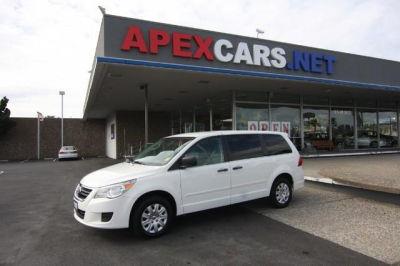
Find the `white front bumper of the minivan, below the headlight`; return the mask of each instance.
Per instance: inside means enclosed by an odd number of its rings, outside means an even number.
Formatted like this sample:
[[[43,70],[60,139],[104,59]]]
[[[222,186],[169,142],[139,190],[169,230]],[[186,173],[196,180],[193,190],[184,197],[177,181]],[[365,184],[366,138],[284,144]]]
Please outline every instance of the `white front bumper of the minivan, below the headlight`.
[[[93,189],[84,200],[74,196],[74,202],[76,202],[76,206],[74,206],[75,220],[94,228],[128,228],[130,213],[135,199],[126,195],[115,199],[95,199],[95,194],[96,190]],[[80,212],[79,215],[78,212]],[[112,213],[111,219],[107,222],[102,221],[102,214],[104,213]]]

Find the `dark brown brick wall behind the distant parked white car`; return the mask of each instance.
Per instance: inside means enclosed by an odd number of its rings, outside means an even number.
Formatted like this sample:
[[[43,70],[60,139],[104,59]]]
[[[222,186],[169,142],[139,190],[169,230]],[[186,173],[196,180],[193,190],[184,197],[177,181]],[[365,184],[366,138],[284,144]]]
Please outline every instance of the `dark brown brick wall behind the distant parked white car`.
[[[0,160],[37,158],[37,119],[13,118],[15,127],[0,136]],[[46,118],[40,124],[41,158],[56,158],[61,145],[61,121]],[[64,118],[64,145],[74,145],[83,157],[105,155],[105,120]]]

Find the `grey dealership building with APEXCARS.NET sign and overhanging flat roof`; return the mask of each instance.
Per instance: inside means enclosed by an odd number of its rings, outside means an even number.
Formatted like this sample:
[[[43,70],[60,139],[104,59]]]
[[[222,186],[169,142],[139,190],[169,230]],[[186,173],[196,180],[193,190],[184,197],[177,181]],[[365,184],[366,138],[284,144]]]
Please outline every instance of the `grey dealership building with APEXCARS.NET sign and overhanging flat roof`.
[[[106,155],[208,130],[286,132],[304,154],[399,149],[400,63],[105,15],[84,118]]]

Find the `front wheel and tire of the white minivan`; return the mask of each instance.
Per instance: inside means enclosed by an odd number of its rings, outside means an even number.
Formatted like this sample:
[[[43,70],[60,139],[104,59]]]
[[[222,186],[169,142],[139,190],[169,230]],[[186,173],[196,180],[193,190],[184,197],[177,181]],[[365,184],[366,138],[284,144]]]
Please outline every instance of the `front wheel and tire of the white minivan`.
[[[131,228],[136,235],[158,237],[166,233],[175,214],[171,203],[154,195],[141,200],[131,214]]]

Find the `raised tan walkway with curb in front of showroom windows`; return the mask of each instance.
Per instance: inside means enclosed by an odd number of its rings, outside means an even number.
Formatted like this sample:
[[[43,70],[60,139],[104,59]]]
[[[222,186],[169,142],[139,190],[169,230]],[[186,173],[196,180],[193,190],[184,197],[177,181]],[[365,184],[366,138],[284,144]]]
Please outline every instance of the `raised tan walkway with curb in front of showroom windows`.
[[[305,176],[400,194],[400,154],[310,158],[303,168]]]

